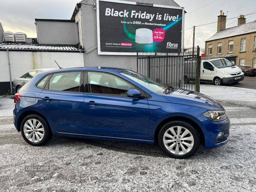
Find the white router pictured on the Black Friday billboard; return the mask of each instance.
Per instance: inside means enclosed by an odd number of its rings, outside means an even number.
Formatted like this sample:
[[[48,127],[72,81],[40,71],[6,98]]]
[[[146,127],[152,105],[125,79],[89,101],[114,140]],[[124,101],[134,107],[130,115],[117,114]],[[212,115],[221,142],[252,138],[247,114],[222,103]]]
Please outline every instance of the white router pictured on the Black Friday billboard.
[[[153,32],[151,29],[140,28],[136,29],[135,42],[137,44],[152,44]]]

